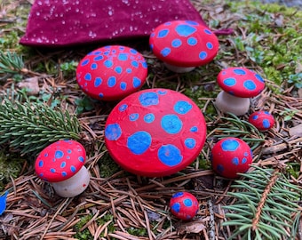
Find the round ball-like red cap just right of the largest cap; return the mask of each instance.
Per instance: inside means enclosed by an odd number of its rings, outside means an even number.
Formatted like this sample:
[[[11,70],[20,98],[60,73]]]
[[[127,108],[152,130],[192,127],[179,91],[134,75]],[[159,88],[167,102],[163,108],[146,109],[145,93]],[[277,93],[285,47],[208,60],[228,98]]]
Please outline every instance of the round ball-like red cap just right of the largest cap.
[[[212,169],[225,178],[234,179],[237,173],[247,172],[251,162],[249,145],[237,138],[219,140],[211,149]]]

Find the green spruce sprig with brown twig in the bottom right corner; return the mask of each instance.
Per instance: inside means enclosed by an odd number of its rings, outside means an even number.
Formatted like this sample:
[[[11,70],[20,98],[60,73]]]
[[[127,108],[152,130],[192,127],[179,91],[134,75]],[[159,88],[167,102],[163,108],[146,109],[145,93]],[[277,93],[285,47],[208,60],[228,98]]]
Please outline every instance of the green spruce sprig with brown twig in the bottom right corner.
[[[222,225],[234,227],[229,239],[295,239],[301,216],[296,202],[302,188],[291,184],[278,169],[253,167],[253,172],[241,174],[243,180],[235,181],[238,191],[228,193],[236,198],[233,205],[224,207],[228,220]]]

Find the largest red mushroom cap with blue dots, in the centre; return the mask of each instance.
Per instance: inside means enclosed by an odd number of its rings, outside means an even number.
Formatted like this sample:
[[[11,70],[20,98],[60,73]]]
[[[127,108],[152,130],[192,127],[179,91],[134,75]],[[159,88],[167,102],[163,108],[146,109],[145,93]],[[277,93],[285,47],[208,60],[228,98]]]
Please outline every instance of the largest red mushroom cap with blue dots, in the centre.
[[[200,108],[168,89],[132,93],[115,106],[105,126],[105,143],[115,162],[147,177],[170,175],[191,164],[205,136]]]

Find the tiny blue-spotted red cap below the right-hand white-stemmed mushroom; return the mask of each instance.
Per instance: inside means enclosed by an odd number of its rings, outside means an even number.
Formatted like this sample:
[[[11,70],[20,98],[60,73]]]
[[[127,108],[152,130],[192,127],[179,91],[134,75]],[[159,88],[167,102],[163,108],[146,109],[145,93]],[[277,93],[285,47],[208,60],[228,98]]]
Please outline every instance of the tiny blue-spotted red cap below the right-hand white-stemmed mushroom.
[[[259,131],[266,131],[274,126],[274,116],[267,111],[257,111],[249,116],[249,122]]]

